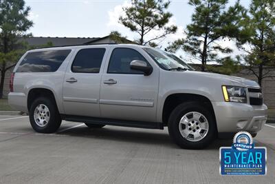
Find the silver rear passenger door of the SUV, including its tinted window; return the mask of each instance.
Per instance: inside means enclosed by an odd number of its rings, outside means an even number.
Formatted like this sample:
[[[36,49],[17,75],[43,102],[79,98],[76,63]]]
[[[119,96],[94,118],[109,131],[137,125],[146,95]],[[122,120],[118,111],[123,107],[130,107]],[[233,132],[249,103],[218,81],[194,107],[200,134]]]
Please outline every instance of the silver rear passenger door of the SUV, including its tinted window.
[[[63,84],[65,114],[100,116],[100,68],[106,52],[104,47],[80,49],[68,65]]]

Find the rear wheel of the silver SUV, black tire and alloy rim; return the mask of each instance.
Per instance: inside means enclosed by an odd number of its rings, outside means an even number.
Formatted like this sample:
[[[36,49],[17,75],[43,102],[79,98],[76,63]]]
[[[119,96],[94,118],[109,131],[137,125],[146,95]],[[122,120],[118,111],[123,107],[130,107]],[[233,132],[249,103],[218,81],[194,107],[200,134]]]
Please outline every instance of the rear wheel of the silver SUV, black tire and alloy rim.
[[[44,112],[44,113],[43,113]],[[39,97],[30,107],[30,124],[39,133],[54,133],[61,125],[61,116],[51,98]]]

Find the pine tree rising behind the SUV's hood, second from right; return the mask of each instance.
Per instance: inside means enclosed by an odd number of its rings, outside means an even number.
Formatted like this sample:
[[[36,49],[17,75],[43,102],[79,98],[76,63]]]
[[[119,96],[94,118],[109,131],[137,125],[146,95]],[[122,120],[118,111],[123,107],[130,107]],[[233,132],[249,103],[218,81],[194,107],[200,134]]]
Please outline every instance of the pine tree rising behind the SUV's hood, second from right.
[[[183,49],[201,61],[201,71],[206,70],[208,61],[228,61],[222,59],[219,53],[228,54],[232,50],[222,41],[234,38],[241,31],[239,21],[244,19],[245,9],[239,1],[234,6],[226,8],[228,0],[189,0],[195,7],[192,23],[187,25],[186,39],[172,43],[168,50]]]

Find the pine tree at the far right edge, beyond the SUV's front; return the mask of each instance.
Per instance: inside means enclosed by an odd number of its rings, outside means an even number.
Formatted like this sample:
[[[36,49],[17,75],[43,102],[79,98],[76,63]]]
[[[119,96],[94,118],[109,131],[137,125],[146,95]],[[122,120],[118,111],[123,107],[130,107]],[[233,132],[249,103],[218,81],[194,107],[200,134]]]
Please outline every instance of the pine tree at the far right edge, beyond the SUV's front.
[[[249,16],[241,25],[245,30],[237,45],[247,53],[245,67],[262,85],[263,79],[275,77],[270,73],[275,68],[275,1],[252,0]]]

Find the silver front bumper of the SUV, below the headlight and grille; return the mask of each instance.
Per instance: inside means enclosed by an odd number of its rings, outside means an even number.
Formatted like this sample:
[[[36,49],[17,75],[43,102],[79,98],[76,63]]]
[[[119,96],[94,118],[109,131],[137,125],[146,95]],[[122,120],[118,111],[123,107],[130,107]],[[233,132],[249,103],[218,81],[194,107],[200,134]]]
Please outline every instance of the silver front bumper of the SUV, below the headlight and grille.
[[[267,106],[213,102],[218,132],[259,132],[267,121]]]

